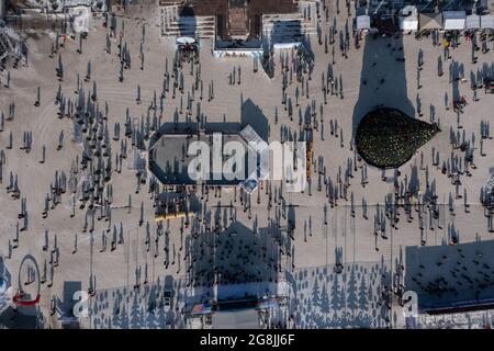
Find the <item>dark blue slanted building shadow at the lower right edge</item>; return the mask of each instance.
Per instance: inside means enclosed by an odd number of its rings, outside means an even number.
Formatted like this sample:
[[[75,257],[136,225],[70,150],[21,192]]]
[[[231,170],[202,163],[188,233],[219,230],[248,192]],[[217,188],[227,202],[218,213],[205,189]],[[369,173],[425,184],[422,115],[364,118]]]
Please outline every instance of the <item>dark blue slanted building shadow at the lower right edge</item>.
[[[493,249],[494,240],[407,247],[405,286],[417,293],[419,310],[445,314],[492,309],[494,259],[487,252]]]

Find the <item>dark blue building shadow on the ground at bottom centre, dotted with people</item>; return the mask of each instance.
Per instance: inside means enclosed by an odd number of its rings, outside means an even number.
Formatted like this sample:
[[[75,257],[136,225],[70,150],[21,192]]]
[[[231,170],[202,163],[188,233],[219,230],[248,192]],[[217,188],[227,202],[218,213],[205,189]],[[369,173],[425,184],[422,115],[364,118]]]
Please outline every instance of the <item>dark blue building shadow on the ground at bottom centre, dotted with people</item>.
[[[195,301],[232,305],[276,296],[282,256],[272,230],[252,230],[235,222],[224,230],[189,236],[188,281]]]

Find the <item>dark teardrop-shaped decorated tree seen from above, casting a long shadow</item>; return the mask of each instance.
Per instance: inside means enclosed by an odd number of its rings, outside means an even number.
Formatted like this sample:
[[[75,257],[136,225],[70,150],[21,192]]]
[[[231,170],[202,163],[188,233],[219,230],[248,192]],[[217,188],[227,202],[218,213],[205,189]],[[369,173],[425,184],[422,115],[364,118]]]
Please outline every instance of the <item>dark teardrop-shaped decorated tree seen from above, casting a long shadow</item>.
[[[397,109],[378,107],[360,121],[355,141],[366,162],[390,169],[406,163],[438,132],[436,124],[412,118]]]

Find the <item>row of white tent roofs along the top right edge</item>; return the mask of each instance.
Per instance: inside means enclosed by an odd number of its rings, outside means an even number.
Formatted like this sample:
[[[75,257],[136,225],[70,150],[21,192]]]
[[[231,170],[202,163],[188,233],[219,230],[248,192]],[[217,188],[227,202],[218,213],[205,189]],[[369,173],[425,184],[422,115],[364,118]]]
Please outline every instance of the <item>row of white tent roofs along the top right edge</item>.
[[[357,30],[370,30],[370,22],[369,15],[357,16]],[[408,5],[401,11],[400,30],[403,32],[416,32],[418,30],[494,30],[494,15],[467,15],[464,11],[418,13],[416,7]]]

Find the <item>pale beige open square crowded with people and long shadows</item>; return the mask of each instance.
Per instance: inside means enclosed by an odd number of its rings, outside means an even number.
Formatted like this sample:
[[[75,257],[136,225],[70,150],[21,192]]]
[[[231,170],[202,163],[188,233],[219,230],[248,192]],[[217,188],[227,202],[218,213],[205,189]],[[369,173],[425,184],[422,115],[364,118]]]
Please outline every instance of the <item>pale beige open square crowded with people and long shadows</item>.
[[[475,252],[489,256],[494,239],[485,204],[494,94],[476,88],[494,77],[492,36],[485,53],[472,49],[480,31],[449,53],[434,35],[368,33],[356,45],[355,1],[349,12],[345,1],[297,4],[314,65],[300,77],[294,48],[273,48],[270,78],[251,56],[215,57],[210,37],[199,39],[197,59],[179,63],[177,37],[162,33],[170,7],[155,2],[113,5],[114,30],[93,13],[83,39],[57,38],[58,20],[43,13],[13,25],[27,55],[0,72],[0,268],[11,292],[23,286],[40,302],[11,307],[4,325],[32,326],[23,316],[34,314],[36,325],[59,328],[74,305],[71,282],[90,295],[86,328],[194,328],[194,306],[247,296],[270,302],[260,327],[405,328],[403,293],[430,303],[437,290],[420,284],[439,288],[438,278],[450,276],[437,261],[452,269],[461,258],[451,250],[474,244],[461,262],[476,270]],[[454,106],[461,97],[463,112]],[[357,126],[379,106],[438,127],[398,168],[379,169],[357,152]],[[184,190],[190,214],[155,220],[157,193],[183,190],[149,171],[149,140],[161,125],[187,123],[238,123],[266,141],[307,141],[306,189],[198,183]],[[409,254],[422,251],[430,269],[408,271]],[[34,283],[26,256],[37,264]],[[494,298],[493,268],[479,260],[484,284],[476,275],[448,284],[460,296],[470,286],[469,299]],[[469,314],[473,327],[492,322],[490,309]],[[430,318],[415,326],[441,327]]]

